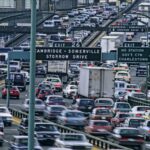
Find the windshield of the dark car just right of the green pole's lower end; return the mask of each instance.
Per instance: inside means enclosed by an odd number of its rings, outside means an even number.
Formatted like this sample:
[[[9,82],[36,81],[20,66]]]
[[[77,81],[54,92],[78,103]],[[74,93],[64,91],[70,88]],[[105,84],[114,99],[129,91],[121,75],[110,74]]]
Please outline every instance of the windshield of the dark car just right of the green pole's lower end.
[[[35,131],[56,131],[52,124],[36,124]]]

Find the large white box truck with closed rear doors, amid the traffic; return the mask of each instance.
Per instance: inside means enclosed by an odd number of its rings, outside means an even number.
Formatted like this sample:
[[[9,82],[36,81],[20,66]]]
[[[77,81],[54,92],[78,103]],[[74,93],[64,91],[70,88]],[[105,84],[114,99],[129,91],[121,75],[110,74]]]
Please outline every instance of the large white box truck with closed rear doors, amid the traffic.
[[[80,69],[78,95],[81,97],[110,97],[114,94],[114,72],[103,67]]]

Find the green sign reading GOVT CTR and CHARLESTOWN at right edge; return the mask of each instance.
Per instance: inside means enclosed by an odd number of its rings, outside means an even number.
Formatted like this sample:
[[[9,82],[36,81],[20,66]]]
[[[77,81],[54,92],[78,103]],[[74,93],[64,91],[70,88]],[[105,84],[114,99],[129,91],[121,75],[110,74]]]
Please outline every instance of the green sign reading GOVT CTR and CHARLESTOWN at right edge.
[[[119,47],[117,60],[126,63],[148,63],[150,47]]]

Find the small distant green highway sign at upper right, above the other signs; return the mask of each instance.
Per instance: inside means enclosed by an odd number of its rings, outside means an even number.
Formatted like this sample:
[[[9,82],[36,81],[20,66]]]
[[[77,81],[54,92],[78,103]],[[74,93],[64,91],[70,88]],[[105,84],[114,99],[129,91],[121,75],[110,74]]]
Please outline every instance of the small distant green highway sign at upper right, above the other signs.
[[[146,26],[137,25],[113,25],[108,28],[109,32],[146,32]]]

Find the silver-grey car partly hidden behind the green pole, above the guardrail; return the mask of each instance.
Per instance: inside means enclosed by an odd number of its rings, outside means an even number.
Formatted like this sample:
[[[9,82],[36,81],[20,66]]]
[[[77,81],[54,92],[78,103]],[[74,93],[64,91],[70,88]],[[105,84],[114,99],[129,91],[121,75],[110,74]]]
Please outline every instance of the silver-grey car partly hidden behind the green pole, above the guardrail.
[[[25,99],[23,106],[22,106],[22,110],[25,112],[29,112],[29,99]],[[43,114],[44,110],[45,110],[45,103],[40,100],[40,99],[35,99],[35,113],[36,114]]]

